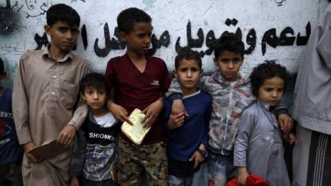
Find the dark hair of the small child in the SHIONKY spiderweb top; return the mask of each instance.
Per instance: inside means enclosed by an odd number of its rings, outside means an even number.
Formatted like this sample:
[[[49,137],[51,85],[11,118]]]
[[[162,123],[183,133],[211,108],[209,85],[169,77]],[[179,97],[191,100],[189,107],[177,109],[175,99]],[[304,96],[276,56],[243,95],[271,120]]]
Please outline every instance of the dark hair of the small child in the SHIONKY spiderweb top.
[[[86,87],[94,87],[97,90],[106,89],[105,77],[103,74],[92,72],[86,74],[79,82],[79,92],[84,94]],[[107,90],[107,89],[106,89]]]

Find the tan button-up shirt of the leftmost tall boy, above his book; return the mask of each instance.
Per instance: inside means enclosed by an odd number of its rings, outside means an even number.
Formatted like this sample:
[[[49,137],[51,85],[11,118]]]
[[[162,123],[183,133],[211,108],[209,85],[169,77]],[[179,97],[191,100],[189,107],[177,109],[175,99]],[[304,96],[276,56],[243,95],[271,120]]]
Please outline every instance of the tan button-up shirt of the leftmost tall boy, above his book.
[[[88,71],[86,61],[71,52],[59,61],[48,48],[21,56],[12,93],[20,144],[41,145],[57,138],[67,124],[81,126],[88,107],[79,101],[79,81]]]

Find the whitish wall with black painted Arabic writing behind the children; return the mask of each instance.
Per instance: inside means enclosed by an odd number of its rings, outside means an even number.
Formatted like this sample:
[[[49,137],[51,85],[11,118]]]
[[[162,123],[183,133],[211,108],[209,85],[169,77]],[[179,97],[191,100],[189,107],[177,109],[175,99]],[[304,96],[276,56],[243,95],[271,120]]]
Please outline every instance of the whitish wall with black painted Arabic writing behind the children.
[[[224,31],[237,32],[245,43],[243,72],[265,59],[297,72],[314,24],[326,0],[0,0],[0,57],[12,86],[21,54],[45,48],[49,37],[43,25],[52,4],[66,3],[81,16],[81,34],[74,53],[88,59],[90,68],[104,72],[107,61],[121,55],[123,43],[115,32],[117,14],[129,7],[145,10],[154,27],[150,53],[169,70],[181,48],[201,52],[206,73],[214,71],[212,43]]]

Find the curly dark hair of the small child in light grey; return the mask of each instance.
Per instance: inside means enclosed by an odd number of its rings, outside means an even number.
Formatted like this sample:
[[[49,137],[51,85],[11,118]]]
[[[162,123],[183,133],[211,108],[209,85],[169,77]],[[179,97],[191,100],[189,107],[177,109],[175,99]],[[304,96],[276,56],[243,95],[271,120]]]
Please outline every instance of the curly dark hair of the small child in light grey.
[[[254,96],[259,96],[259,88],[263,85],[265,79],[279,77],[284,80],[284,90],[286,87],[286,79],[288,79],[288,70],[283,65],[279,65],[274,61],[264,61],[253,68],[250,73],[250,81],[252,83],[252,91]]]

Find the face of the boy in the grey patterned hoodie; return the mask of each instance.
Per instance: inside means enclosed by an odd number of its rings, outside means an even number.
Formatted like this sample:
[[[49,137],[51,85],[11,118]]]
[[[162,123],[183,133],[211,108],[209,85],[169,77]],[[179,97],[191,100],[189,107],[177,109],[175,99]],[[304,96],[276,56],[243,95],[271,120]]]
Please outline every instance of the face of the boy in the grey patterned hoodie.
[[[225,50],[214,59],[214,64],[219,68],[219,72],[227,81],[238,81],[239,70],[243,64],[241,55],[236,52]]]

